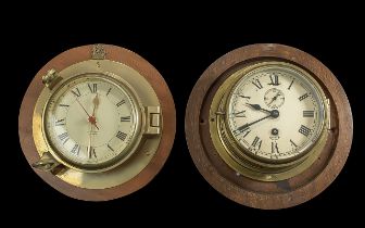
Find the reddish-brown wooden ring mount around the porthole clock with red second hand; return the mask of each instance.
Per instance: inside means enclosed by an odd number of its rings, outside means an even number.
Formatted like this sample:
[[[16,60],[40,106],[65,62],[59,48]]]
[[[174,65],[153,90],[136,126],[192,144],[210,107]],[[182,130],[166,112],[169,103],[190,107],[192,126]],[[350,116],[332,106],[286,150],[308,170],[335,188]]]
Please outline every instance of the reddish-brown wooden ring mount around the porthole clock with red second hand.
[[[166,83],[160,73],[143,58],[127,49],[110,45],[103,45],[103,47],[106,51],[106,59],[116,62],[123,62],[129,67],[136,69],[150,83],[161,103],[161,110],[163,113],[163,130],[159,149],[150,164],[129,181],[113,188],[98,190],[78,188],[62,181],[50,173],[38,170],[30,166],[38,174],[38,176],[40,176],[47,183],[52,186],[58,191],[68,197],[86,201],[112,200],[129,194],[144,187],[153,179],[153,177],[160,172],[166,162],[173,147],[176,131],[176,113],[174,100]],[[33,140],[32,121],[34,106],[38,96],[45,88],[45,86],[41,84],[42,75],[45,75],[50,68],[61,71],[76,62],[89,60],[91,49],[92,46],[83,46],[59,54],[48,62],[37,73],[30,83],[24,96],[18,116],[18,134],[21,145],[29,165],[39,160],[39,155]]]

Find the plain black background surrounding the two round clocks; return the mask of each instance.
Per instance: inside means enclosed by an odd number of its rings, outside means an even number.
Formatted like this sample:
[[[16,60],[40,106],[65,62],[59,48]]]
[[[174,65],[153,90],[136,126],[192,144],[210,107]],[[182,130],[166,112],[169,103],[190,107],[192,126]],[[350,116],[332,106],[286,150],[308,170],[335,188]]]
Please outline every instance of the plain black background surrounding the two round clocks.
[[[16,100],[13,97],[10,100],[14,122],[17,123],[27,86],[42,65],[70,48],[90,43],[116,45],[143,56],[164,76],[177,112],[174,148],[159,175],[138,192],[100,203],[70,199],[45,183],[28,166],[18,143],[17,129],[14,129],[15,124],[12,125],[14,143],[10,144],[16,147],[3,151],[11,154],[9,161],[15,161],[5,169],[10,174],[4,177],[7,186],[3,187],[9,191],[4,199],[10,202],[8,213],[21,213],[22,216],[41,214],[45,220],[61,214],[66,218],[64,225],[68,218],[77,218],[76,221],[81,224],[98,220],[139,224],[150,221],[150,215],[153,215],[152,223],[171,226],[165,221],[167,217],[176,218],[178,224],[199,218],[212,224],[256,223],[266,227],[290,225],[288,218],[301,225],[336,223],[344,217],[357,220],[360,217],[352,212],[364,203],[360,186],[363,186],[362,161],[365,159],[361,147],[365,110],[361,83],[363,63],[358,59],[364,49],[361,15],[353,11],[355,8],[342,5],[338,10],[312,5],[302,12],[298,9],[303,5],[280,11],[241,8],[237,12],[231,12],[236,5],[226,7],[228,9],[210,11],[177,4],[161,13],[152,10],[144,13],[138,10],[140,5],[130,11],[127,8],[118,11],[113,5],[81,7],[67,12],[30,11],[21,22],[8,24],[7,36],[10,39],[5,49],[11,51],[8,52],[7,68],[11,69],[8,77],[15,87],[5,88],[9,92],[3,96],[16,91]],[[203,71],[226,52],[260,42],[292,46],[317,58],[338,77],[353,112],[354,139],[341,174],[322,194],[288,210],[253,210],[216,192],[197,170],[185,140],[186,104]],[[172,215],[167,216],[167,213]],[[133,215],[138,215],[139,219]],[[35,224],[41,220],[33,219]]]

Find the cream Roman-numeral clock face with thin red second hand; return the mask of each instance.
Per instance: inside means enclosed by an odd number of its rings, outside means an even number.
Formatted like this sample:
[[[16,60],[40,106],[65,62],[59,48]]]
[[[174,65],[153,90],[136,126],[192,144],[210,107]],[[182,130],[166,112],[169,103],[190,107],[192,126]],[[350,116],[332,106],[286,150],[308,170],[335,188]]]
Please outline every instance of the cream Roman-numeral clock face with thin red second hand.
[[[106,76],[84,75],[51,96],[45,131],[62,161],[81,169],[104,168],[129,155],[138,113],[126,87]]]

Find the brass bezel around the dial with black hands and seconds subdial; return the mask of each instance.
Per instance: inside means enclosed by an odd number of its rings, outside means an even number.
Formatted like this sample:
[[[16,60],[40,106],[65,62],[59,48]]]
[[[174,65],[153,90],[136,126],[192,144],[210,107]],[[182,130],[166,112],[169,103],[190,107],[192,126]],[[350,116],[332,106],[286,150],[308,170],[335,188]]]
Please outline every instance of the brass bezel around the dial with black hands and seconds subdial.
[[[228,115],[226,115],[226,113],[228,113],[228,103],[231,99],[234,88],[238,83],[249,73],[257,68],[275,65],[300,71],[302,75],[312,83],[314,89],[320,96],[320,110],[323,110],[323,121],[318,129],[319,134],[314,138],[315,142],[310,147],[302,149],[303,152],[297,156],[282,161],[266,160],[264,157],[255,156],[240,145],[227,126]],[[221,157],[239,174],[262,181],[288,179],[310,167],[318,157],[327,139],[327,130],[325,127],[328,127],[329,116],[328,109],[325,106],[327,98],[320,89],[319,84],[310,75],[310,73],[282,60],[262,60],[260,63],[253,62],[241,68],[239,66],[236,67],[234,73],[230,74],[231,75],[228,76],[215,93],[210,110],[210,118],[214,119],[210,122],[210,132],[213,144]]]

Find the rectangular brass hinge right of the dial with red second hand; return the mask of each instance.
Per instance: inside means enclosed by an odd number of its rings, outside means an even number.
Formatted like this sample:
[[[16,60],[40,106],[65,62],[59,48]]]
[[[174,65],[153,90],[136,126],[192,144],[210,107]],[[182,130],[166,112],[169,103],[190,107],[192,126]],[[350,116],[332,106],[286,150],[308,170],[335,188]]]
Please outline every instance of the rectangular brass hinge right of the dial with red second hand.
[[[161,109],[160,106],[147,106],[146,109],[146,131],[148,135],[161,134]]]

